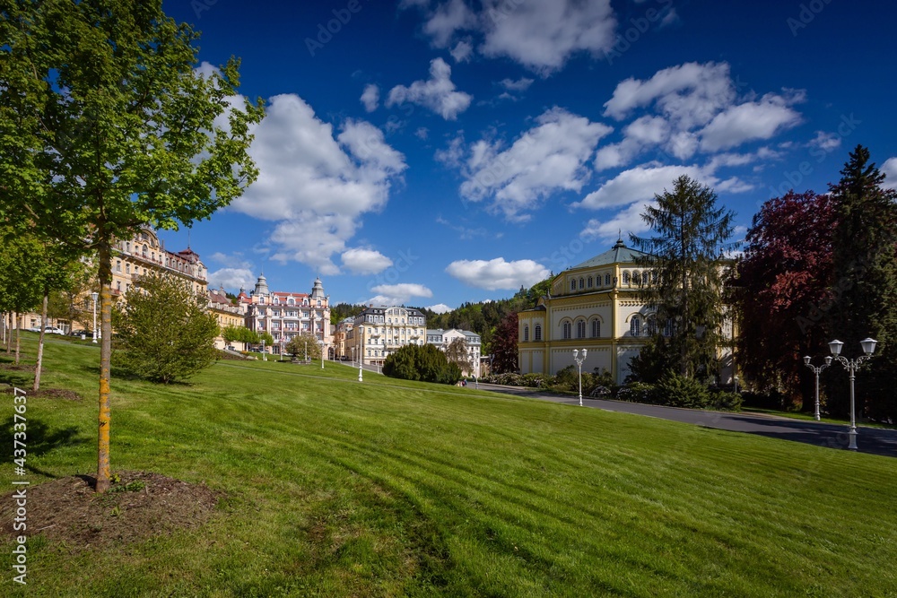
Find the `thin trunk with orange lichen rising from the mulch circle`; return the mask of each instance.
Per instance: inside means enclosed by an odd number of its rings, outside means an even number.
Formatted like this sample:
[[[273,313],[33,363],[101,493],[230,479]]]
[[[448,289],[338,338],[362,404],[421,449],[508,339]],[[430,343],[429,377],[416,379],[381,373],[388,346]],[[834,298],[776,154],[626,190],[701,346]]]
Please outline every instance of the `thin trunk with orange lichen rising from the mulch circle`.
[[[97,492],[109,490],[109,372],[112,357],[112,264],[111,249],[101,244],[100,262],[100,429],[97,442]]]

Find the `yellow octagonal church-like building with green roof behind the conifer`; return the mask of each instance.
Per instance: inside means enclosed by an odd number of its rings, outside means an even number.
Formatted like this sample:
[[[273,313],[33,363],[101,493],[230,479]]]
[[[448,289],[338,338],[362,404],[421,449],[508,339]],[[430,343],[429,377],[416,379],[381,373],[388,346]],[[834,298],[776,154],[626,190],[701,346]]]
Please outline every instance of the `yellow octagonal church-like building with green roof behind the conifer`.
[[[649,270],[636,264],[642,252],[618,240],[614,247],[558,274],[551,294],[536,308],[518,313],[518,367],[523,374],[556,374],[576,367],[574,350],[588,350],[583,371],[607,371],[617,384],[629,375],[629,361],[654,334],[654,311],[640,299]],[[660,329],[662,334],[669,330]],[[718,377],[731,383],[735,331],[730,322],[718,348]]]

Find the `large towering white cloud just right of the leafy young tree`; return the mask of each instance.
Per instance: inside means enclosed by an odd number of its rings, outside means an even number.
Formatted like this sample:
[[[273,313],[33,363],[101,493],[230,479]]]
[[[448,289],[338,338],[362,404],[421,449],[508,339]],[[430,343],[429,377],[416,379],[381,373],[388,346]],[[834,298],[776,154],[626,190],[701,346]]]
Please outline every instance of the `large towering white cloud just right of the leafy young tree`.
[[[232,209],[276,222],[272,259],[338,273],[330,257],[345,250],[365,213],[387,204],[405,156],[364,121],[347,120],[335,135],[294,94],[271,98],[254,133],[249,153],[259,176]]]

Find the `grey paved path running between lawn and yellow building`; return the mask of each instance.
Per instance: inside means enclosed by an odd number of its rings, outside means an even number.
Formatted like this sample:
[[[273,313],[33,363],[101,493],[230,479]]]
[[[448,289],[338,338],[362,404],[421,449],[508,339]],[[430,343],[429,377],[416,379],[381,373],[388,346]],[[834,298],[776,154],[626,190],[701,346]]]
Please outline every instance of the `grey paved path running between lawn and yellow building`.
[[[549,394],[532,388],[518,386],[500,386],[480,384],[483,390],[498,393],[529,396],[553,403],[578,405],[579,398],[570,395]],[[624,403],[623,401],[605,401],[602,399],[583,398],[583,406],[604,409],[610,412],[635,413],[661,420],[681,421],[708,428],[727,429],[733,432],[759,434],[770,438],[806,442],[811,445],[847,448],[849,427],[817,421],[794,420],[774,415],[708,412],[697,409],[680,409],[677,407],[661,407],[640,403]],[[897,457],[897,429],[858,427],[857,446],[861,453],[872,453]]]

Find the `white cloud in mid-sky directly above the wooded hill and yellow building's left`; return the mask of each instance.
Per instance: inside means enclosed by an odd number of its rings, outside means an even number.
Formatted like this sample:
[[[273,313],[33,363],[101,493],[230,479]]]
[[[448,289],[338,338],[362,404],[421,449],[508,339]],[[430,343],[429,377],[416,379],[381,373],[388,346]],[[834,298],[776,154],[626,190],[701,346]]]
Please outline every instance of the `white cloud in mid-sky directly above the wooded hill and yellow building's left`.
[[[536,126],[507,149],[500,141],[473,143],[462,168],[466,180],[461,195],[473,202],[491,199],[491,208],[509,220],[527,220],[521,212],[536,207],[547,195],[582,188],[590,175],[586,163],[611,130],[562,108],[546,110],[536,118]],[[452,149],[443,160],[457,158]]]

